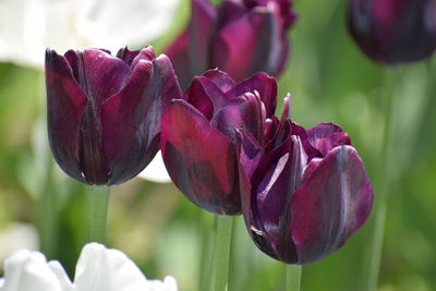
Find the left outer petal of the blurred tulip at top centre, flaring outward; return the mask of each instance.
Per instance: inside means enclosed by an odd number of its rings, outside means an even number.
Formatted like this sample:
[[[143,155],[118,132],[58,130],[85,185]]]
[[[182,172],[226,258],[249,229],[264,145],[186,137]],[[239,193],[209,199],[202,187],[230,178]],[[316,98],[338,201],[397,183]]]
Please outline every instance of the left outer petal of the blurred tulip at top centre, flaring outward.
[[[165,54],[170,58],[174,66],[175,74],[183,89],[187,87],[193,75],[190,69],[190,56],[187,52],[189,41],[186,29],[165,50]]]

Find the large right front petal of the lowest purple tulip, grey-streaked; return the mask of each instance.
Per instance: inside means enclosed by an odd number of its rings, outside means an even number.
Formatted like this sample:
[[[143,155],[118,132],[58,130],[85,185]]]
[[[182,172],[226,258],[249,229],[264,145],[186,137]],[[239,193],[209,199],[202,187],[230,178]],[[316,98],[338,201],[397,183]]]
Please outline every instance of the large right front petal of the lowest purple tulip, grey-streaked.
[[[336,147],[315,162],[291,202],[290,231],[299,264],[338,250],[373,206],[373,189],[353,147]]]

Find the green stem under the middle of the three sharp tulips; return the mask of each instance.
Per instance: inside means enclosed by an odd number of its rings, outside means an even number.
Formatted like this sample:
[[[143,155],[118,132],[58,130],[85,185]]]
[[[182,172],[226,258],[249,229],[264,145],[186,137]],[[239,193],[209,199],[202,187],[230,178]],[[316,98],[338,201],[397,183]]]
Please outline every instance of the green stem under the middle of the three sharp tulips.
[[[215,245],[215,291],[227,291],[233,217],[217,216]]]

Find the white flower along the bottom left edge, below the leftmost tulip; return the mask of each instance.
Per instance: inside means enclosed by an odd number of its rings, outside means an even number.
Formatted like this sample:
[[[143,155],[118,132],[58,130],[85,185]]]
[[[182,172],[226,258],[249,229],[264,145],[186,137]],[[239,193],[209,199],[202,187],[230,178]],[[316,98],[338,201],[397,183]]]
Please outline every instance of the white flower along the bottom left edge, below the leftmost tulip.
[[[177,291],[172,277],[147,280],[118,250],[89,243],[82,250],[71,282],[62,266],[39,252],[21,251],[4,263],[0,291]]]

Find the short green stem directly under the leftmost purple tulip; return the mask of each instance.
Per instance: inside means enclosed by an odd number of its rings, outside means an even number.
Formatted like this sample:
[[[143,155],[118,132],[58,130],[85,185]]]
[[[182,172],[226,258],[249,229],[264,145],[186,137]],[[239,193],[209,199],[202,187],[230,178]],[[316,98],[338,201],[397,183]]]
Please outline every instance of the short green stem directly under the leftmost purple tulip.
[[[110,187],[89,187],[89,242],[104,243],[106,240],[106,219],[108,216]]]

